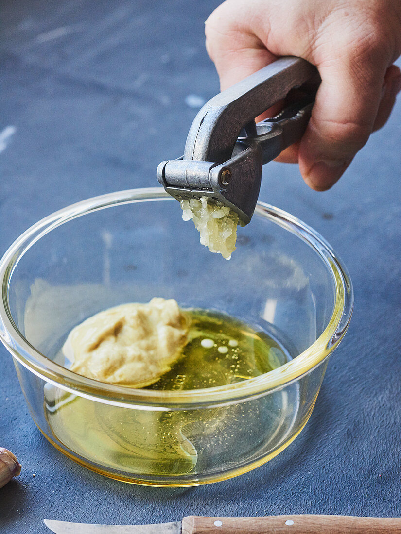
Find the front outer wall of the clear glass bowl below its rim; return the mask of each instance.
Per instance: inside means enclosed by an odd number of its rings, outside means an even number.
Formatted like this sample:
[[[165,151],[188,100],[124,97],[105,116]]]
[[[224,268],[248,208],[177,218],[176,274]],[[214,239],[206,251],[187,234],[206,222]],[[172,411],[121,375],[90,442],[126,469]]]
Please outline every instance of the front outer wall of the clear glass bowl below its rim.
[[[246,473],[289,445],[312,413],[327,359],[258,398],[175,411],[97,402],[14,363],[37,427],[61,452],[117,480],[191,486]]]

